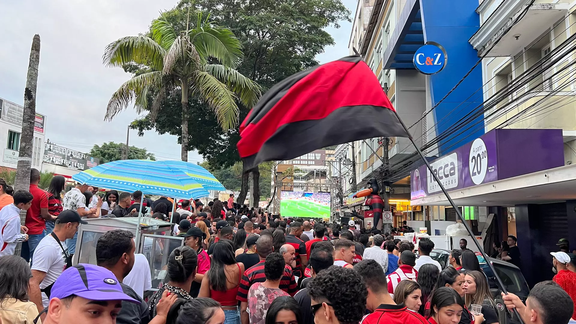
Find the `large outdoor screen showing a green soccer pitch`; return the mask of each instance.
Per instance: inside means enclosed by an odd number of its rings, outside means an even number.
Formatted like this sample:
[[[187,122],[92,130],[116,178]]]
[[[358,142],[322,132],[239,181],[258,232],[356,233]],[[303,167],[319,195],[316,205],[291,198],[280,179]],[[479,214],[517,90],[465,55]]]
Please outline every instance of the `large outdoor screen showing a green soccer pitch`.
[[[282,191],[280,212],[283,217],[330,217],[330,193]]]

